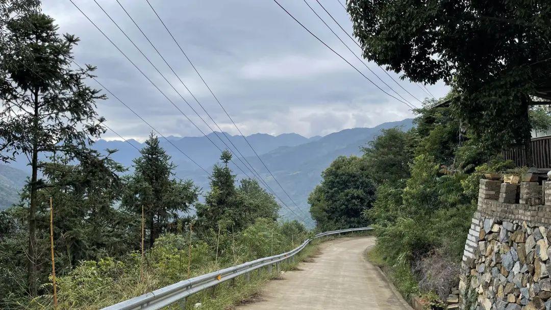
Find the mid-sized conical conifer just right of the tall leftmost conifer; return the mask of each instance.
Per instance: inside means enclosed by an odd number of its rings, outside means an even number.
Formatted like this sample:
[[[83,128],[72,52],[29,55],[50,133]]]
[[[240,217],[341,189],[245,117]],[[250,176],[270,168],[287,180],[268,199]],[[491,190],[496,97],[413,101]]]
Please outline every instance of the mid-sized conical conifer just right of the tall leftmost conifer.
[[[134,174],[128,177],[122,206],[141,216],[144,210],[149,229],[149,247],[168,229],[179,213],[190,210],[197,202],[199,188],[191,180],[174,180],[176,166],[161,148],[159,138],[153,133],[145,141],[142,154],[134,159]]]

